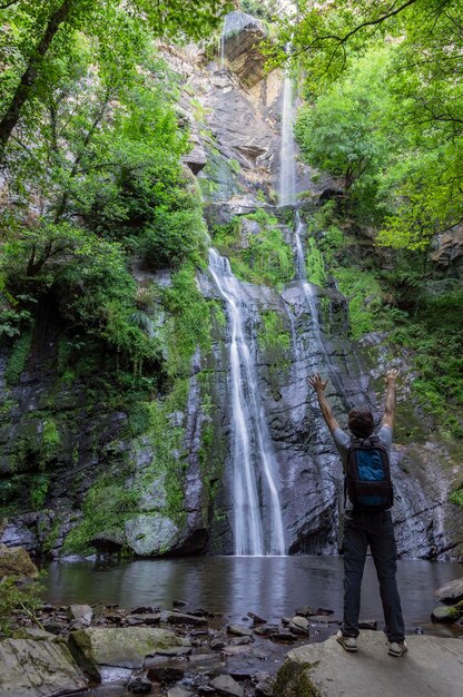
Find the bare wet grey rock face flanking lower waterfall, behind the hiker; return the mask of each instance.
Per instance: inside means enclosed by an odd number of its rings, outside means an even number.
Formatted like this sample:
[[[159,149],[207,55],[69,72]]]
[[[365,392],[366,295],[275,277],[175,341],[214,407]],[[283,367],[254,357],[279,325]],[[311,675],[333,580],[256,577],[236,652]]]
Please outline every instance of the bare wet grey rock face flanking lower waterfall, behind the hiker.
[[[206,277],[201,278],[201,288],[205,294],[223,302],[214,295],[217,291]],[[288,284],[282,295],[249,284],[242,284],[242,289],[245,332],[254,346],[263,409],[278,463],[277,485],[286,549],[293,554],[337,553],[342,542],[343,472],[315,395],[308,389],[307,377],[316,372],[329,375],[327,396],[343,428],[346,428],[347,412],[354,405],[371,409],[375,423],[380,424],[384,409],[382,376],[386,364],[383,364],[382,348],[378,353],[367,348],[377,347],[375,342],[382,338],[370,337],[370,345],[364,350],[353,345],[346,336],[344,301],[337,293],[318,289],[316,305],[323,327],[318,337],[322,338],[321,347],[319,341],[316,341],[314,317],[299,283]],[[280,316],[282,325],[292,336],[289,350],[275,353],[274,350],[258,347],[256,337],[266,311]],[[227,324],[220,348],[214,352],[210,365],[215,372],[218,404],[214,418],[227,439],[228,450],[216,499],[217,516],[211,522],[209,550],[223,553],[233,553],[234,550],[230,534],[234,516],[230,479],[234,424],[230,412],[229,332]],[[405,363],[400,367],[406,374],[408,369]],[[405,383],[398,391],[396,444],[392,453],[395,488],[392,513],[397,550],[400,556],[436,558],[452,549],[462,524],[461,511],[449,502],[457,467],[449,448],[428,439],[418,421],[416,415],[413,416]],[[416,429],[412,428],[415,422]],[[265,500],[260,503],[265,511]],[[263,519],[268,519],[266,512]]]

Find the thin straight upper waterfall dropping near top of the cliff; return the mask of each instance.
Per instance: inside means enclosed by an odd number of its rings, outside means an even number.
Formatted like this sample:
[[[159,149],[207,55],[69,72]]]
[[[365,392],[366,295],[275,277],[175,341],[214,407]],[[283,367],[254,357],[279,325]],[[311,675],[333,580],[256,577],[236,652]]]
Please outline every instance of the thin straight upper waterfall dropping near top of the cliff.
[[[288,50],[288,48],[287,48]],[[282,145],[279,151],[278,205],[296,204],[296,160],[294,147],[294,92],[289,71],[283,82]]]

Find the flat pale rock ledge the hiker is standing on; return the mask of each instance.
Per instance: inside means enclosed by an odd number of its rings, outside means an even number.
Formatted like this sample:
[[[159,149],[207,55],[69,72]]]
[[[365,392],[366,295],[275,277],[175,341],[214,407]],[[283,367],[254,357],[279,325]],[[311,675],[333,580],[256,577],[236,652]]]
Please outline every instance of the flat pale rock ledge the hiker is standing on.
[[[278,697],[461,697],[463,641],[410,636],[401,658],[387,655],[383,632],[362,631],[347,654],[329,637],[293,649],[278,670]]]

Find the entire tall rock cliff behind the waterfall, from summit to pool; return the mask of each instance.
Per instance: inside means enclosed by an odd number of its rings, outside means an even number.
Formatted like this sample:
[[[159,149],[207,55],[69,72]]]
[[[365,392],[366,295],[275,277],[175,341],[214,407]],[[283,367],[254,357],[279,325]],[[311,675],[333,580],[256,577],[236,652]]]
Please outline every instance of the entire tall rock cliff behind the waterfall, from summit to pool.
[[[232,258],[242,278],[238,300],[276,462],[286,551],[336,553],[341,465],[307,376],[329,375],[328,397],[345,425],[353,405],[371,406],[378,421],[382,374],[392,364],[407,372],[408,364],[403,354],[391,361],[382,335],[352,343],[345,298],[334,286],[313,284],[309,298],[307,283],[297,277],[295,210],[278,208],[276,200],[283,73],[265,75],[258,47],[265,33],[260,22],[234,12],[223,35],[224,65],[220,55],[208,59],[209,49],[160,50],[179,76],[179,118],[191,138],[184,161],[201,187],[211,244]],[[318,199],[332,195],[336,184],[323,178],[315,184],[297,161],[296,188],[307,224]],[[307,248],[306,226],[301,230]],[[140,288],[171,284],[167,271],[154,274],[134,265],[132,272]],[[237,426],[230,316],[207,268],[198,272],[197,284],[213,308],[213,343],[196,351],[181,399],[170,396],[160,406],[154,402],[148,414],[141,409],[129,413],[124,404],[115,409],[101,387],[57,382],[60,326],[56,298],[50,300],[19,384],[0,385],[0,484],[9,516],[2,542],[62,553],[69,531],[85,522],[86,505],[110,497],[115,479],[127,494],[120,500],[124,516],[116,527],[93,531],[97,549],[128,548],[140,556],[233,552],[230,472]],[[168,322],[160,311],[154,317],[158,332]],[[4,359],[3,372],[6,365]],[[408,379],[397,411],[393,474],[398,551],[442,557],[457,543],[462,523],[460,510],[449,502],[457,478],[455,454],[427,432],[411,400]],[[19,510],[8,510],[8,492],[28,481],[33,481],[33,497],[22,497]],[[257,481],[265,521],[262,474]],[[141,495],[131,501],[135,489]]]

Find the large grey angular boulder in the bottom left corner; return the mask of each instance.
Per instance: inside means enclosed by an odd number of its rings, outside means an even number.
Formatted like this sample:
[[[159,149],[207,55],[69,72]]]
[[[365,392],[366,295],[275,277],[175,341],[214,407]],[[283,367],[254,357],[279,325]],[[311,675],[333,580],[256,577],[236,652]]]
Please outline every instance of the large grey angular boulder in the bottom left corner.
[[[87,688],[66,644],[45,635],[0,642],[0,697],[52,697]]]

